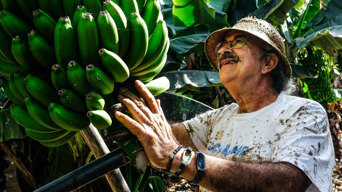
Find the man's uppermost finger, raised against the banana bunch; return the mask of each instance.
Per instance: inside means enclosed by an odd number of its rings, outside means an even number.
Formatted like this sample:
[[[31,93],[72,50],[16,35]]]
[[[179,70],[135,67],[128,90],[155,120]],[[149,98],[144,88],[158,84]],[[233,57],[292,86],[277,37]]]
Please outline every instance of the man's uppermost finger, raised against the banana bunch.
[[[156,99],[153,95],[147,90],[144,83],[139,80],[134,82],[134,86],[136,90],[140,93],[141,97],[144,99],[147,107],[152,111],[152,113],[159,113],[159,108],[156,102]]]

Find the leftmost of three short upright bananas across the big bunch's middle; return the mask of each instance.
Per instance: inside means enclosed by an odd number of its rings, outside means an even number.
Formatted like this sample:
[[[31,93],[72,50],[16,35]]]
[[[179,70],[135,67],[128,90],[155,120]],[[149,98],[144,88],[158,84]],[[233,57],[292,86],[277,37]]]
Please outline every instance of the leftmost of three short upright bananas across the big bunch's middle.
[[[56,90],[71,88],[65,69],[58,63],[52,66],[51,81]]]

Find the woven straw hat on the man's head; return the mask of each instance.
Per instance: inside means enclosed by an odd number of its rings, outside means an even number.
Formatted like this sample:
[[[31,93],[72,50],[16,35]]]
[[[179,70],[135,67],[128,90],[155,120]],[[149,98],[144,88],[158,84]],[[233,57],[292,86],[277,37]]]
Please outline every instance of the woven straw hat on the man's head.
[[[215,53],[215,47],[220,42],[224,41],[226,34],[230,30],[244,31],[254,35],[266,43],[271,45],[281,56],[287,68],[287,76],[291,78],[291,67],[286,58],[284,43],[281,40],[280,34],[271,24],[256,17],[247,16],[240,19],[233,27],[223,28],[212,32],[206,39],[204,44],[206,55],[210,64],[218,71],[216,67],[216,58],[218,54]]]

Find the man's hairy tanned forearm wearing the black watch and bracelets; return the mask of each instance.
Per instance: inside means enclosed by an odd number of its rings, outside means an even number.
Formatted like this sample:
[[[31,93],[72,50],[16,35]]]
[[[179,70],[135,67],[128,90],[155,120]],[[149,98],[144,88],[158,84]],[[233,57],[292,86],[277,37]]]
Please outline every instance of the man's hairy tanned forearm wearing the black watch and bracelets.
[[[178,152],[171,171],[177,172],[182,159]],[[210,191],[305,191],[311,181],[290,163],[245,163],[206,155],[206,174],[199,185]],[[192,180],[196,175],[193,157],[181,174]]]

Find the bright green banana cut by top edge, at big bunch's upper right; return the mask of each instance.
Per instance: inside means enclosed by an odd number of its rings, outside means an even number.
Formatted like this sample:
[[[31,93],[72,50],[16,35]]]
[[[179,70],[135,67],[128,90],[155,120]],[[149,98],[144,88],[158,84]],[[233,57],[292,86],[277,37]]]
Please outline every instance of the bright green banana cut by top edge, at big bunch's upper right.
[[[144,19],[147,26],[148,37],[152,34],[152,31],[158,22],[159,12],[159,0],[148,0],[143,11],[141,12],[141,17]]]

